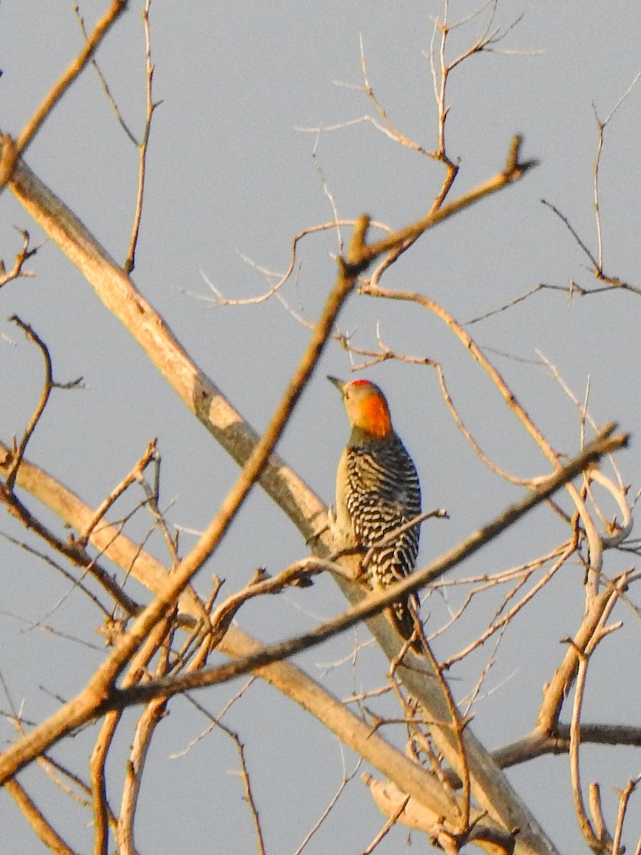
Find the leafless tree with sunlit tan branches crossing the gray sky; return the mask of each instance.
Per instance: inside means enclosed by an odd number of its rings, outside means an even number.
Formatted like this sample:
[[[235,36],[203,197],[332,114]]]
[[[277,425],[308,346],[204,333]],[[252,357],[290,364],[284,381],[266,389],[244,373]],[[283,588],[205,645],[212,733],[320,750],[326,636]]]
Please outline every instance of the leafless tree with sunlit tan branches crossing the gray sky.
[[[90,813],[93,852],[132,853],[138,851],[138,846],[144,851],[145,841],[134,841],[134,823],[141,792],[151,786],[144,774],[145,761],[159,723],[176,703],[175,699],[186,699],[209,719],[208,727],[221,728],[232,740],[238,752],[244,799],[256,830],[256,851],[267,852],[260,799],[256,798],[252,787],[242,734],[223,722],[226,707],[222,713],[214,714],[203,704],[203,693],[196,692],[249,675],[250,682],[245,682],[240,691],[238,683],[230,683],[226,705],[234,704],[256,679],[267,681],[286,699],[301,707],[305,716],[314,716],[380,775],[380,778],[369,773],[362,776],[373,801],[387,817],[378,831],[372,828],[372,842],[365,852],[372,852],[379,846],[396,823],[419,829],[432,845],[446,852],[460,852],[468,844],[485,852],[524,855],[557,852],[544,830],[546,817],[534,816],[535,811],[516,793],[504,772],[509,766],[530,763],[546,753],[567,755],[575,813],[586,846],[593,852],[623,852],[623,840],[631,827],[629,817],[634,812],[632,804],[638,778],[622,776],[618,804],[615,811],[611,811],[603,806],[596,783],[585,787],[581,770],[584,746],[589,743],[641,744],[638,727],[621,725],[615,715],[610,722],[591,722],[582,711],[591,663],[601,655],[602,642],[620,628],[620,612],[631,610],[638,616],[632,597],[638,570],[633,565],[620,569],[611,560],[613,555],[625,553],[626,560],[633,561],[632,556],[638,552],[638,543],[632,540],[632,503],[614,456],[615,451],[626,445],[627,434],[620,433],[613,424],[600,427],[591,418],[587,402],[574,396],[562,380],[561,371],[548,363],[550,372],[567,392],[579,425],[579,441],[562,451],[556,439],[550,438],[554,433],[541,428],[520,403],[522,390],[499,371],[489,352],[470,333],[473,323],[485,321],[494,312],[512,311],[515,305],[531,299],[534,293],[560,286],[539,283],[499,309],[487,310],[482,316],[462,322],[428,293],[398,288],[392,280],[395,266],[415,251],[426,233],[438,234],[438,227],[444,221],[467,216],[468,209],[482,208],[492,195],[509,192],[511,185],[527,180],[527,174],[537,165],[525,155],[523,140],[515,134],[513,139],[505,141],[503,164],[497,164],[493,174],[471,189],[460,190],[462,167],[451,153],[448,141],[452,75],[472,57],[500,50],[499,45],[512,32],[512,27],[501,28],[495,23],[497,3],[486,3],[479,14],[456,22],[449,20],[448,3],[444,4],[442,14],[434,21],[429,50],[437,107],[433,148],[409,139],[391,119],[392,110],[381,103],[374,91],[361,43],[362,82],[359,88],[369,112],[335,127],[307,130],[320,136],[344,131],[355,122],[367,123],[397,144],[399,151],[409,150],[415,156],[432,161],[434,168],[441,170],[440,183],[418,218],[411,221],[408,217],[407,225],[394,228],[364,214],[356,219],[341,220],[334,195],[319,166],[323,187],[332,203],[332,220],[306,227],[295,236],[291,242],[291,262],[284,272],[261,268],[268,279],[268,287],[261,295],[237,298],[212,285],[214,296],[211,299],[215,304],[243,304],[245,308],[239,311],[260,312],[262,307],[257,304],[284,299],[283,291],[297,274],[301,247],[306,241],[318,233],[333,234],[338,239],[336,277],[333,284],[325,288],[321,310],[313,320],[303,316],[302,311],[291,310],[292,327],[300,323],[309,330],[307,344],[268,427],[256,433],[223,395],[218,378],[210,378],[196,363],[188,352],[189,343],[179,342],[130,276],[136,266],[138,234],[141,216],[144,216],[147,150],[153,139],[156,109],[150,6],[150,0],[145,0],[147,97],[142,135],[138,138],[126,124],[111,94],[107,75],[95,59],[99,44],[125,10],[126,3],[114,0],[92,29],[85,27],[76,10],[84,46],[21,133],[15,137],[3,135],[0,180],[5,194],[13,194],[47,238],[74,263],[103,306],[140,345],[144,357],[177,394],[185,409],[209,431],[221,447],[221,453],[232,457],[241,469],[226,498],[211,516],[209,525],[190,549],[183,548],[171,512],[162,506],[160,454],[153,440],[131,471],[97,506],[75,495],[66,485],[64,476],[56,477],[47,471],[56,469],[53,458],[39,461],[29,452],[52,394],[61,387],[81,386],[82,381],[57,380],[50,343],[44,341],[28,319],[13,317],[16,329],[26,335],[42,357],[44,381],[40,399],[21,439],[8,440],[2,445],[0,468],[4,481],[0,498],[24,528],[22,548],[34,561],[48,563],[51,569],[62,573],[74,591],[85,594],[87,607],[100,610],[103,623],[99,632],[106,640],[108,651],[101,655],[100,663],[83,681],[82,687],[69,697],[58,696],[56,709],[38,721],[29,720],[23,714],[12,687],[4,685],[4,715],[14,728],[15,737],[0,755],[3,787],[44,846],[52,852],[74,852],[74,847],[49,806],[42,799],[32,797],[29,783],[23,780],[23,770],[35,765],[40,775],[48,776],[62,793],[78,800]],[[456,53],[450,47],[452,33],[460,29],[471,32],[470,23],[478,27],[479,21],[482,21],[481,34],[471,38],[468,46]],[[118,38],[116,31],[110,34],[112,37]],[[62,203],[54,190],[44,185],[23,159],[51,110],[90,63],[96,67],[123,132],[138,149],[138,193],[131,239],[121,261],[109,256],[78,216]],[[626,292],[629,300],[638,295],[636,286],[610,272],[606,274],[603,261],[599,166],[603,132],[615,109],[605,121],[597,123],[594,171],[597,249],[592,250],[567,215],[549,203],[588,258],[599,282],[591,289],[573,282],[567,289],[571,298],[601,292],[604,288]],[[3,265],[0,285],[19,288],[21,277],[31,274],[28,265],[38,247],[32,245],[29,228],[22,231],[22,245],[13,264]],[[7,234],[4,238],[9,239]],[[469,360],[465,370],[473,374],[482,369],[479,374],[484,375],[483,382],[497,392],[500,405],[515,417],[516,431],[522,432],[538,448],[542,465],[524,475],[510,471],[495,452],[485,450],[483,439],[479,439],[479,433],[485,432],[479,431],[478,425],[470,424],[464,408],[456,402],[456,393],[450,389],[452,378],[435,357],[405,352],[404,342],[392,347],[378,331],[375,348],[342,331],[338,318],[346,302],[368,298],[378,301],[383,315],[396,304],[408,304],[415,317],[429,316],[444,325]],[[274,451],[328,347],[342,347],[348,351],[357,363],[355,369],[396,361],[408,369],[418,365],[435,372],[451,416],[451,426],[461,433],[473,455],[493,478],[515,487],[514,501],[501,513],[493,516],[488,513],[484,526],[474,529],[459,544],[385,593],[373,593],[367,583],[361,581],[359,570],[362,565],[367,566],[367,555],[362,552],[346,554],[340,544],[332,541],[325,504]],[[10,407],[11,402],[4,405]],[[261,569],[235,591],[214,577],[209,594],[203,596],[194,585],[195,577],[219,549],[221,540],[237,520],[239,510],[256,485],[267,492],[279,511],[296,526],[300,534],[300,560],[294,563],[283,560],[281,568],[273,575]],[[130,497],[134,497],[133,505],[123,513],[120,510],[123,500]],[[530,512],[535,508],[538,510],[532,516]],[[432,516],[445,515],[445,510],[436,507],[430,510]],[[148,548],[148,534],[135,534],[143,512],[151,514],[151,528],[162,537],[166,556],[163,560],[156,557],[154,549]],[[554,532],[556,540],[550,543],[547,536],[542,537],[544,548],[534,555],[531,546],[524,545],[517,562],[509,565],[497,551],[497,569],[489,574],[445,576],[481,547],[496,545],[497,537],[509,529],[514,530],[526,515],[532,527],[542,534]],[[258,522],[244,524],[246,537],[255,536],[253,532],[259,528]],[[74,534],[68,536],[66,530]],[[520,616],[527,616],[556,577],[576,564],[584,577],[583,613],[575,622],[571,636],[565,640],[565,654],[558,662],[544,663],[549,676],[538,710],[532,709],[532,729],[491,752],[475,735],[472,718],[485,691],[487,674],[503,634],[508,629],[518,633]],[[336,581],[349,601],[346,610],[301,633],[287,632],[285,628],[281,640],[271,644],[262,644],[239,628],[250,601],[256,598],[269,610],[273,600],[268,595],[300,587],[309,589],[305,592],[309,600],[305,602],[312,603],[315,577],[320,575],[330,575]],[[139,583],[135,593],[132,580]],[[429,593],[429,604],[441,597],[447,605],[436,621],[431,617],[426,622],[422,655],[403,644],[385,615],[386,606],[400,595],[418,590]],[[470,624],[472,633],[468,628],[460,633],[477,607],[484,615],[483,625],[479,627],[475,619]],[[390,663],[386,673],[385,669],[379,669],[378,687],[355,689],[350,698],[338,699],[323,681],[289,661],[294,654],[361,622],[367,622]],[[479,652],[485,645],[490,645],[492,652],[479,666]],[[446,655],[443,650],[447,650]],[[356,650],[353,655],[357,657]],[[456,684],[450,680],[450,670],[463,661],[471,663],[470,669],[474,669],[475,674],[472,681],[468,680],[467,698],[457,697]],[[28,678],[28,664],[26,672]],[[621,669],[620,679],[624,680],[625,676],[626,670]],[[36,685],[31,687],[32,691]],[[385,706],[381,708],[385,709],[384,714],[376,712],[373,706],[373,699],[381,694],[385,695]],[[115,745],[123,729],[126,734],[131,733],[132,718],[128,713],[136,718],[133,738],[123,737],[131,745],[128,756],[122,760]],[[256,711],[256,715],[260,715],[260,711]],[[87,749],[88,743],[85,743],[82,761],[74,758],[73,752],[69,756],[66,753],[73,741],[71,737],[80,732],[91,734],[91,746]],[[405,742],[404,751],[399,742]],[[335,799],[303,840],[298,852],[307,845],[338,799],[343,798],[355,774],[356,769],[345,770]],[[197,786],[197,781],[194,785]],[[119,794],[120,806],[116,807],[115,799]],[[184,817],[181,821],[185,821]],[[639,846],[641,844],[637,851]]]

